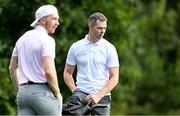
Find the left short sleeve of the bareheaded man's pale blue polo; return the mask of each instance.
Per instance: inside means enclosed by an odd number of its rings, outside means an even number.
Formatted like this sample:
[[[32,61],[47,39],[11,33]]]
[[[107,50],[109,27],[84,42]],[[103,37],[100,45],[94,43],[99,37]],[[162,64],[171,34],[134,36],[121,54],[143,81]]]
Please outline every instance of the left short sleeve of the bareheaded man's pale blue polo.
[[[74,44],[69,48],[66,63],[70,64],[70,65],[76,65],[75,46],[74,46]]]

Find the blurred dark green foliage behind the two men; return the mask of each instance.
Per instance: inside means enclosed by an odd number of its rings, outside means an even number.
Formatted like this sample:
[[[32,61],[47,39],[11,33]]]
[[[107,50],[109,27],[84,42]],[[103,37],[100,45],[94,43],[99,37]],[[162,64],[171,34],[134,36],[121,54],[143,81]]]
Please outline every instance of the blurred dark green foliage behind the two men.
[[[112,91],[112,114],[180,114],[177,0],[0,0],[0,114],[16,112],[9,59],[42,4],[54,4],[60,13],[60,27],[52,36],[64,102],[71,94],[62,76],[67,51],[87,33],[88,16],[99,11],[108,18],[105,37],[115,45],[121,63],[119,84]]]

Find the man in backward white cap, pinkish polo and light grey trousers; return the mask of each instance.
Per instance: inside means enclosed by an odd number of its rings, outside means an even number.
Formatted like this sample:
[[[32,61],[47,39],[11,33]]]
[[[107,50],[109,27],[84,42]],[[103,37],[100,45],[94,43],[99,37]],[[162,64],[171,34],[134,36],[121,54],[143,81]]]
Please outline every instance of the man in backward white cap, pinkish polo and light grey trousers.
[[[55,41],[49,36],[59,25],[55,6],[37,9],[33,30],[14,47],[9,72],[17,89],[18,115],[61,115],[62,96],[55,69]]]

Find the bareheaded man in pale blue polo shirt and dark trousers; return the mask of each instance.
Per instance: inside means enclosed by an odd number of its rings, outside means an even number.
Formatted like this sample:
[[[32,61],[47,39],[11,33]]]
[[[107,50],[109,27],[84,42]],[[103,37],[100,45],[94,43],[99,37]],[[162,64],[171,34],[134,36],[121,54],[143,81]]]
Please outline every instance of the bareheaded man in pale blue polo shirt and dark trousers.
[[[110,115],[110,91],[119,79],[118,55],[115,47],[103,38],[107,19],[102,13],[93,13],[88,19],[88,27],[89,33],[75,42],[67,55],[64,80],[73,95],[63,113]],[[76,84],[72,76],[75,66]]]

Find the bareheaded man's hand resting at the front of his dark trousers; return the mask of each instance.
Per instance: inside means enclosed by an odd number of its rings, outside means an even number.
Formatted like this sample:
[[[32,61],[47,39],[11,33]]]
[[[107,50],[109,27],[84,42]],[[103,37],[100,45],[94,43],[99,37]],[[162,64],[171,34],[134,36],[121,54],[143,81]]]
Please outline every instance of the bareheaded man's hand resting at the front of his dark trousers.
[[[97,104],[101,98],[100,94],[90,94],[86,96],[86,101],[91,102],[92,104]]]

